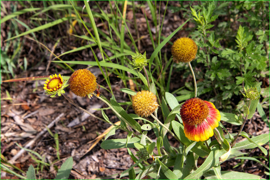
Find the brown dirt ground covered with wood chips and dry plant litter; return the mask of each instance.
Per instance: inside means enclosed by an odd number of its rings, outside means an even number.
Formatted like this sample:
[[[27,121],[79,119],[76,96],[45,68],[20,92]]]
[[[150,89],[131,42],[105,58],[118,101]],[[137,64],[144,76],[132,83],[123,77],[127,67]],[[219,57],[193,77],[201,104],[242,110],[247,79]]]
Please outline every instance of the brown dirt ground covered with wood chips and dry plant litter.
[[[6,7],[10,7],[10,1],[2,1],[6,4]],[[26,3],[28,3],[26,1]],[[83,2],[82,2],[83,3]],[[94,2],[91,2],[94,3]],[[104,5],[104,8],[108,7],[108,4],[105,2],[99,2],[100,5]],[[171,6],[177,6],[177,1],[170,1]],[[41,6],[38,1],[34,4]],[[20,5],[18,6],[20,9]],[[162,6],[161,6],[162,8]],[[109,8],[108,8],[109,9]],[[145,8],[146,15],[151,21],[151,13],[149,8]],[[161,9],[161,14],[163,14]],[[10,12],[11,9],[8,9]],[[3,17],[1,12],[1,17]],[[19,19],[25,23],[29,22],[29,16],[32,15],[31,12],[25,13],[19,16]],[[143,7],[138,9],[138,11],[133,14],[132,10],[127,11],[127,19],[133,19],[133,15],[136,16],[138,30],[140,35],[147,35],[147,26],[144,16]],[[164,19],[164,29],[162,30],[162,35],[168,36],[174,29],[181,25],[186,19],[182,18],[179,12],[173,13],[171,10],[168,10]],[[181,17],[181,18],[180,18]],[[163,15],[162,17],[163,18]],[[7,39],[9,30],[9,22],[1,24],[1,48],[5,48],[7,42],[4,40]],[[96,23],[102,23],[98,21]],[[60,29],[66,29],[68,25],[59,24],[54,28],[50,29],[50,37],[42,36],[41,33],[36,33],[36,36],[43,43],[46,43],[50,49],[53,49],[55,41],[52,39],[58,39],[60,36],[62,38],[59,45],[54,49],[54,53],[60,55],[61,53],[70,50],[72,47],[81,46],[80,42],[76,40],[74,36],[70,36],[65,31]],[[136,36],[136,31],[134,30],[133,24],[128,23],[128,26],[132,30],[134,37]],[[192,21],[189,21],[185,28],[194,27],[195,24]],[[26,31],[25,27],[19,26],[21,31]],[[76,26],[77,33],[79,33],[80,27]],[[82,33],[83,34],[83,33]],[[186,36],[188,32],[185,30],[180,30],[177,36]],[[175,38],[176,38],[175,37]],[[50,52],[44,49],[42,46],[32,41],[29,38],[21,37],[21,40],[24,41],[22,44],[23,49],[20,53],[19,62],[23,62],[24,57],[27,57],[28,60],[28,69],[22,71],[19,65],[14,69],[15,77],[32,77],[32,76],[42,76],[50,75],[54,73],[61,73],[62,75],[71,75],[71,71],[68,69],[63,69],[55,63],[50,64],[49,71],[46,71],[48,61],[52,58],[50,57]],[[172,41],[174,39],[171,39]],[[140,50],[141,52],[147,51],[147,54],[151,54],[153,49],[151,48],[150,38],[142,38],[140,41]],[[165,46],[164,51],[169,51],[170,45]],[[96,49],[98,51],[98,49]],[[15,49],[9,49],[8,53],[12,54]],[[109,52],[108,52],[109,53]],[[168,54],[170,56],[170,54]],[[93,58],[91,50],[83,50],[69,55],[63,56],[64,60],[89,60]],[[169,57],[168,57],[169,58]],[[93,58],[94,59],[94,58]],[[85,68],[85,65],[76,65],[73,66],[74,69]],[[200,68],[200,67],[197,67]],[[108,87],[106,81],[104,80],[100,69],[93,67],[91,71],[97,76],[97,81],[99,84]],[[172,80],[179,81],[179,75],[182,72],[173,73]],[[3,80],[6,80],[8,76],[5,73],[2,73]],[[124,87],[123,82],[116,75],[111,74],[110,80],[113,83],[112,88],[115,92],[115,98],[118,102],[128,101],[129,98],[126,94],[121,92],[119,89]],[[186,79],[184,79],[186,80]],[[178,85],[181,86],[184,84],[184,80],[180,80]],[[269,77],[265,78],[266,85],[269,86]],[[93,144],[93,140],[104,130],[110,127],[108,123],[100,121],[98,119],[89,116],[85,112],[76,108],[63,97],[54,97],[50,98],[45,95],[43,89],[44,80],[39,81],[19,81],[11,83],[2,83],[1,84],[1,153],[7,158],[12,159],[20,151],[20,147],[16,144],[18,143],[21,146],[25,146],[52,121],[57,119],[57,122],[51,127],[51,131],[59,135],[59,145],[60,145],[60,158],[61,160],[57,161],[54,165],[60,168],[61,164],[68,157],[73,156],[74,165],[71,171],[70,179],[96,179],[96,178],[106,178],[114,179],[119,178],[119,174],[125,169],[129,168],[133,164],[133,160],[129,156],[125,148],[122,149],[112,149],[105,150],[100,147],[101,141],[95,145],[95,147],[89,151],[88,149]],[[179,88],[172,86],[171,90],[174,88]],[[10,94],[11,99],[5,99],[8,97],[7,92]],[[110,94],[101,88],[100,93],[110,98]],[[104,107],[106,104],[102,103],[95,97],[91,100],[87,97],[79,97],[74,95],[68,88],[66,89],[66,94],[68,97],[77,102],[80,106],[88,109],[90,112],[94,113],[97,116],[102,117],[101,111],[96,111],[96,108]],[[132,112],[132,109],[130,109]],[[265,112],[267,118],[269,119],[269,110]],[[112,122],[117,122],[119,119],[110,111],[106,110],[106,114]],[[59,118],[59,119],[58,119]],[[238,126],[232,124],[223,124],[230,132],[237,132]],[[244,126],[243,129],[245,132],[248,132],[252,135],[259,135],[269,132],[269,127],[264,123],[259,114],[256,112],[252,119],[250,119]],[[116,134],[112,138],[125,138],[127,136],[126,132],[117,130]],[[177,146],[178,142],[173,137],[168,135],[168,138],[173,146]],[[237,141],[242,140],[241,138]],[[41,137],[35,139],[35,142],[29,147],[30,149],[38,152],[42,156],[45,156],[46,162],[53,162],[57,160],[56,148],[54,137],[46,131]],[[269,144],[263,145],[264,148],[269,152]],[[134,149],[131,149],[133,153]],[[86,153],[87,152],[87,153]],[[248,156],[260,157],[262,163],[265,163],[269,166],[269,153],[266,159],[262,158],[264,155],[260,149],[247,149],[243,150]],[[199,162],[200,163],[200,162]],[[239,166],[233,168],[237,163],[241,163]],[[20,155],[15,161],[14,164],[21,168],[22,170],[27,171],[30,164],[33,164],[34,167],[37,167],[35,160],[27,153],[24,152]],[[47,166],[43,171],[37,174],[37,178],[43,179],[52,179],[55,177],[57,171],[55,166]],[[222,170],[235,170],[235,171],[244,171],[252,174],[261,176],[261,178],[269,179],[269,176],[265,175],[264,171],[267,169],[262,166],[260,163],[252,160],[235,160],[230,159],[221,164]],[[1,172],[2,179],[14,179],[18,178],[14,175],[11,175],[6,172]],[[123,177],[127,178],[127,177]]]

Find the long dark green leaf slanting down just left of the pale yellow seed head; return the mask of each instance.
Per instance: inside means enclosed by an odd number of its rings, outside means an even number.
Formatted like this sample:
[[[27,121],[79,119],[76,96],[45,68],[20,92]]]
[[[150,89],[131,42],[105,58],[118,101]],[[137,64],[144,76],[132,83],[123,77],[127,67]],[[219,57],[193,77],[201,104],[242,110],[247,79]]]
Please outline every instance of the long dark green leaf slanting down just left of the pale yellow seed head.
[[[116,102],[114,99],[111,98],[111,103],[113,108],[123,117],[122,120],[124,120],[126,123],[128,123],[132,128],[138,130],[139,132],[142,131],[140,124],[134,120],[122,107],[119,105],[118,102]],[[121,118],[121,117],[120,117]]]

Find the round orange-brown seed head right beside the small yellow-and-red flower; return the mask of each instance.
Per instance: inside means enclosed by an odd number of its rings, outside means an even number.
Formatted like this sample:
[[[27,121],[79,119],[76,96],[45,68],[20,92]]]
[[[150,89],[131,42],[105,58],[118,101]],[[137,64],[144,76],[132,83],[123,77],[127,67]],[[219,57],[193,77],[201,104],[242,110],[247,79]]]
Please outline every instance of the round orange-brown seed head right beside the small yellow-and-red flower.
[[[78,69],[69,79],[70,89],[78,96],[91,98],[95,90],[99,90],[97,77],[88,69]],[[97,92],[99,95],[99,91]]]

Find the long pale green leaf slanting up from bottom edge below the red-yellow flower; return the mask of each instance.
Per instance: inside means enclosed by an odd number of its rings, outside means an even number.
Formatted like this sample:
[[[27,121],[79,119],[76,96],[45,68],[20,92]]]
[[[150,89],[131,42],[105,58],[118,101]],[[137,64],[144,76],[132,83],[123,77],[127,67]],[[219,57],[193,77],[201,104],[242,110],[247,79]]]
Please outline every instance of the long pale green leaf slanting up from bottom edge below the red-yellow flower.
[[[194,172],[186,176],[184,179],[198,179],[205,172],[207,172],[210,168],[219,163],[219,157],[226,152],[225,149],[219,149],[219,147],[215,146],[205,161],[197,168]]]

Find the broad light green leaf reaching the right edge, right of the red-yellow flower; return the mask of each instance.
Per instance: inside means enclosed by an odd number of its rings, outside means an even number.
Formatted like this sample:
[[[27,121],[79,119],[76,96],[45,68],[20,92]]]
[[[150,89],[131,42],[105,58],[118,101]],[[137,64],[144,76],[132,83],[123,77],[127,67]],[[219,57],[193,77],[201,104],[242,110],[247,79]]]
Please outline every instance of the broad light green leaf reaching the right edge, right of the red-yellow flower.
[[[235,145],[231,148],[231,150],[240,150],[240,149],[250,149],[250,148],[255,148],[257,145],[263,145],[269,141],[269,133],[267,134],[261,134],[257,135],[255,137],[250,138],[253,142],[250,142],[248,139],[242,141],[242,142],[237,142]],[[255,143],[254,143],[255,142]]]

